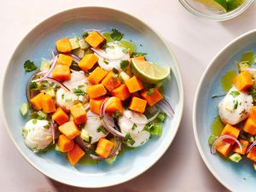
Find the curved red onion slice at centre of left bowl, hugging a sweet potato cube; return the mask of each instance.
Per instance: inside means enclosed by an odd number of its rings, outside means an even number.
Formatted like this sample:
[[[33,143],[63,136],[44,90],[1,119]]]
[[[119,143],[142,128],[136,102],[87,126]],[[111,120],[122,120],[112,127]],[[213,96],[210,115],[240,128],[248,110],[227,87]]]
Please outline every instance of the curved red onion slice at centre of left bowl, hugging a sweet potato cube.
[[[108,100],[108,102],[107,102]],[[113,119],[108,116],[108,114],[105,112],[106,108],[108,107],[108,103],[111,101],[111,98],[106,98],[101,105],[100,108],[100,117],[102,118],[102,125],[108,130],[110,133],[112,133],[116,137],[124,138],[125,135],[117,130],[116,125],[114,125]],[[107,103],[105,103],[107,102]]]

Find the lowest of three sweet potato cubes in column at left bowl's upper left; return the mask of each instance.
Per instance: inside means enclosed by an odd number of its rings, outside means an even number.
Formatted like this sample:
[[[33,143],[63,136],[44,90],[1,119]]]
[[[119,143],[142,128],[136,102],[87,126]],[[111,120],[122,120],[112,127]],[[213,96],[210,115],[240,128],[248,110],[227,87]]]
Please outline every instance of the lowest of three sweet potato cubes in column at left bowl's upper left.
[[[56,65],[52,73],[53,79],[57,81],[67,81],[71,77],[70,69],[68,66]]]

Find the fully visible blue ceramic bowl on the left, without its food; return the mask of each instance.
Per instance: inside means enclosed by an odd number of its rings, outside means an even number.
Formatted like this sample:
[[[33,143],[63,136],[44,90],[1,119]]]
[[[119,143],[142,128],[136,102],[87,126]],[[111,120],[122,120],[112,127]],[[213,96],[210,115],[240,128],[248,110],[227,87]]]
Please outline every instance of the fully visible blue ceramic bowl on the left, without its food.
[[[166,98],[176,115],[167,119],[160,138],[153,137],[141,148],[126,151],[113,165],[105,162],[96,166],[70,166],[65,155],[55,151],[34,154],[26,148],[20,134],[26,118],[20,115],[20,103],[26,102],[25,86],[31,73],[25,74],[27,59],[40,63],[49,59],[59,38],[81,36],[86,29],[124,32],[125,38],[137,44],[137,51],[147,52],[149,61],[172,67],[172,81],[166,84]],[[143,46],[139,46],[142,44]],[[99,188],[123,183],[145,172],[160,159],[176,135],[183,113],[183,85],[177,61],[163,39],[143,21],[121,11],[100,7],[70,9],[53,15],[32,29],[20,42],[9,61],[3,80],[2,109],[4,124],[20,154],[38,171],[61,183],[86,188]]]

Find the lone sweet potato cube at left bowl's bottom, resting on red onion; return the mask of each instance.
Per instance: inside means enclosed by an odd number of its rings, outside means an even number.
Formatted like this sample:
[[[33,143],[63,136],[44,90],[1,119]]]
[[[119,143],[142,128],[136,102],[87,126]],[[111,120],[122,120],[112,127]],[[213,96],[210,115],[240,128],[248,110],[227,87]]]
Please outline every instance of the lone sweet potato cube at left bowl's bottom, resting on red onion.
[[[95,152],[99,156],[101,156],[103,158],[107,158],[108,155],[110,154],[112,148],[113,148],[113,143],[112,142],[110,142],[106,138],[100,138]]]

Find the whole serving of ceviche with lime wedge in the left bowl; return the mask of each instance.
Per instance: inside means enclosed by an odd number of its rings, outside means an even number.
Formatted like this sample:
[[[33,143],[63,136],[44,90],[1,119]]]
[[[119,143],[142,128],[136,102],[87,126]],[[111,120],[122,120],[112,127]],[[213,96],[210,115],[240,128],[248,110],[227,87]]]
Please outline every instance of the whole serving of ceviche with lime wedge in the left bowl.
[[[147,61],[123,36],[117,29],[88,30],[57,40],[39,69],[25,62],[26,73],[36,71],[20,107],[28,117],[22,129],[28,148],[67,154],[73,166],[85,156],[113,163],[124,146],[161,136],[174,115],[163,92],[171,68]]]

